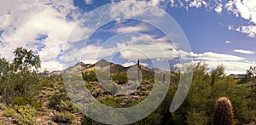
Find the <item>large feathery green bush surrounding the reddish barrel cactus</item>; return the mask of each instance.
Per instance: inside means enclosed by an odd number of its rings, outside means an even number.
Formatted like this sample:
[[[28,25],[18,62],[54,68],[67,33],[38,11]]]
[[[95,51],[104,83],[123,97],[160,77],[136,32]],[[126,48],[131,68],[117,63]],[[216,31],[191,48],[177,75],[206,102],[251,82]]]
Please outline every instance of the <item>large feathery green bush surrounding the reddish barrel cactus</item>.
[[[236,84],[231,77],[224,76],[224,67],[207,73],[207,65],[196,64],[193,66],[194,74],[189,94],[183,105],[172,113],[171,121],[174,124],[183,122],[188,124],[212,124],[213,104],[219,97],[229,97],[232,100],[235,123],[243,124],[255,119],[255,112],[248,106],[252,102],[251,89],[247,84]],[[172,80],[171,80],[172,82]],[[171,87],[174,86],[171,84]]]

